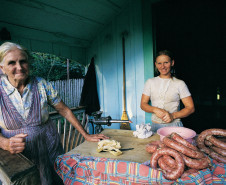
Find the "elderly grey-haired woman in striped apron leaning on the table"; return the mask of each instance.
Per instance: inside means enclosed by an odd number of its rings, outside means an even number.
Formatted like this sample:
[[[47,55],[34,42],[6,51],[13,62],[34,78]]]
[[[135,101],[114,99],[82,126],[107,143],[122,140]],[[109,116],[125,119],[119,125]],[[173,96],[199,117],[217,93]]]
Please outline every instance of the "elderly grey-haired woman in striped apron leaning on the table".
[[[37,164],[42,184],[59,184],[53,164],[63,153],[48,105],[65,117],[87,141],[107,139],[88,134],[51,83],[29,76],[29,53],[22,46],[6,42],[0,46],[0,148],[23,153]],[[57,179],[57,180],[56,180]]]

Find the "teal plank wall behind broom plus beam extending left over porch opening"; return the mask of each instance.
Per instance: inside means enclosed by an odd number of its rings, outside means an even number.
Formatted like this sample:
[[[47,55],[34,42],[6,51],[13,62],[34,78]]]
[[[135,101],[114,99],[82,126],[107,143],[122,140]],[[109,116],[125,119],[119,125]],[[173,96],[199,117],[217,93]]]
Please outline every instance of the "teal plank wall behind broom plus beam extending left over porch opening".
[[[12,41],[31,51],[52,53],[88,64],[95,57],[98,94],[103,116],[121,119],[123,111],[123,57],[122,33],[128,32],[125,40],[126,59],[126,110],[131,128],[136,124],[150,122],[150,114],[140,109],[140,100],[145,81],[153,77],[153,37],[151,3],[157,0],[131,0],[126,10],[115,17],[105,29],[100,30],[90,48],[69,47],[57,41],[49,33],[27,30],[7,23]],[[40,35],[42,35],[40,38]],[[43,41],[46,40],[46,41]],[[111,128],[119,128],[112,124]]]

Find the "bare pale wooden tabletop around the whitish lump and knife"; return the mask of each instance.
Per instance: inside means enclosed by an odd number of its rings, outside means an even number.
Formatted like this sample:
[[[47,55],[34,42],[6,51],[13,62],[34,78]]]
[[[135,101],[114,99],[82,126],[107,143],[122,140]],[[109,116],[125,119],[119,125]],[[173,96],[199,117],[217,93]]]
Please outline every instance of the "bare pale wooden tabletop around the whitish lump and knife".
[[[110,137],[111,140],[116,140],[120,142],[122,148],[134,149],[129,151],[123,151],[123,154],[120,156],[114,156],[109,152],[98,153],[96,151],[97,143],[85,141],[67,154],[79,153],[82,156],[106,157],[143,163],[145,161],[150,160],[151,157],[151,154],[147,153],[145,150],[146,144],[148,144],[150,141],[156,141],[160,139],[158,134],[154,134],[147,139],[139,139],[133,136],[132,130],[105,129],[102,133]]]

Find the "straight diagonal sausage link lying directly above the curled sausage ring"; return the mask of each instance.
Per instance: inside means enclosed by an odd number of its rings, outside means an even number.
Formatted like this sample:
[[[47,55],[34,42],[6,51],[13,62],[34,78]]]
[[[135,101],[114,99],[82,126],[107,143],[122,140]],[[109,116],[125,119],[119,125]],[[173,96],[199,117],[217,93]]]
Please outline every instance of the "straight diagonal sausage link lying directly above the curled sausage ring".
[[[166,146],[173,148],[173,149],[177,150],[178,152],[181,152],[182,154],[187,155],[192,158],[199,159],[199,158],[203,158],[205,156],[201,151],[192,150],[191,148],[188,148],[188,147],[184,146],[183,144],[178,143],[177,141],[174,141],[168,137],[163,138],[163,143]]]

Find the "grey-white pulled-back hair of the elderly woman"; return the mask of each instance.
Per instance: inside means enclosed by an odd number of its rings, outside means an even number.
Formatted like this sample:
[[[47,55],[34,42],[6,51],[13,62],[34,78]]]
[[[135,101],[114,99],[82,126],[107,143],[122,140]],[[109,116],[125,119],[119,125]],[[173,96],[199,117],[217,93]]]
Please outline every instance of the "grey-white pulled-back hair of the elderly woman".
[[[29,59],[29,52],[26,48],[13,42],[5,42],[0,46],[0,65],[1,66],[4,65],[4,57],[7,55],[7,53],[15,49],[21,50],[26,55],[27,60]]]

